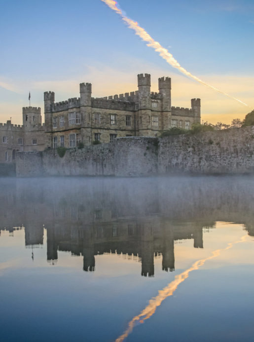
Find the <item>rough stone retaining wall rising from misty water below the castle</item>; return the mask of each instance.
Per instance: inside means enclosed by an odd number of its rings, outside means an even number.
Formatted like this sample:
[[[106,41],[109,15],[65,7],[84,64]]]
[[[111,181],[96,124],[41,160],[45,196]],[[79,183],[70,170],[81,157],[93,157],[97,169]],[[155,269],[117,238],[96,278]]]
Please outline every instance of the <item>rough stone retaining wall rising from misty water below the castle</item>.
[[[17,176],[170,173],[254,173],[254,126],[164,138],[124,137],[112,143],[17,153]]]

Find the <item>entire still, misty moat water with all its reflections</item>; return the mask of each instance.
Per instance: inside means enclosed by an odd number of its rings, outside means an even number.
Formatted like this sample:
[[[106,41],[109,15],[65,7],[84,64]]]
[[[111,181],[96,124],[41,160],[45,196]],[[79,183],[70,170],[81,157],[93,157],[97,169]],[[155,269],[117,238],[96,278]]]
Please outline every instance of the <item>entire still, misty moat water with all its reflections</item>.
[[[254,178],[0,179],[0,340],[254,341]]]

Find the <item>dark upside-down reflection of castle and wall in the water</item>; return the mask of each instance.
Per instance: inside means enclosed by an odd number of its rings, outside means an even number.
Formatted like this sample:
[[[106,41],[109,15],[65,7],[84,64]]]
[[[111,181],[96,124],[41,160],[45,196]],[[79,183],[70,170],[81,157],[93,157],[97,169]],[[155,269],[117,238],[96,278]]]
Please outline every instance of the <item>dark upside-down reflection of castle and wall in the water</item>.
[[[95,271],[95,255],[125,254],[141,262],[141,274],[175,270],[174,241],[193,239],[215,221],[245,225],[254,236],[254,180],[250,177],[44,178],[0,180],[0,229],[25,229],[25,245],[43,244],[47,260],[58,251],[83,256]]]

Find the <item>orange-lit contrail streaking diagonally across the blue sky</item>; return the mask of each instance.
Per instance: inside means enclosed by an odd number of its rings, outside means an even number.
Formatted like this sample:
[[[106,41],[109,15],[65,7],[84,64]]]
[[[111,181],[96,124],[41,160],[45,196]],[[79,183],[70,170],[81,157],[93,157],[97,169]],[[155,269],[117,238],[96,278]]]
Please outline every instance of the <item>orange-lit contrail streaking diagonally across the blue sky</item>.
[[[166,62],[168,64],[170,64],[172,67],[177,68],[184,75],[193,78],[195,81],[203,84],[204,86],[209,87],[209,88],[217,91],[218,93],[223,94],[223,95],[227,96],[228,98],[233,99],[235,101],[238,101],[238,102],[246,105],[247,107],[249,107],[248,104],[242,102],[241,100],[234,98],[233,96],[230,96],[227,93],[222,92],[221,90],[211,86],[210,84],[205,83],[200,78],[198,78],[195,75],[192,75],[192,73],[190,73],[189,71],[187,71],[186,69],[181,67],[179,62],[173,57],[173,55],[167,49],[165,49],[163,46],[161,46],[161,44],[158,41],[154,40],[142,27],[139,26],[139,24],[137,22],[133,21],[132,19],[130,19],[124,15],[123,11],[119,8],[119,6],[117,6],[116,1],[114,1],[114,0],[101,0],[101,1],[105,2],[113,11],[115,11],[117,14],[119,14],[121,16],[122,20],[128,25],[128,27],[130,29],[134,30],[135,33],[141,37],[142,40],[147,42],[147,44],[146,44],[147,46],[152,47],[156,52],[158,52],[159,55],[163,59],[165,59]]]

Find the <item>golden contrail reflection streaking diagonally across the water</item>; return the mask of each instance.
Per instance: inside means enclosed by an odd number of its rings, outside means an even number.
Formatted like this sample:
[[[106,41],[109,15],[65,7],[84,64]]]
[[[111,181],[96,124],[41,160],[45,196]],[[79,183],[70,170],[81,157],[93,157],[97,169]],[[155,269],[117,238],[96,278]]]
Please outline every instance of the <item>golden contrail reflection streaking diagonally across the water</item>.
[[[173,293],[178,288],[178,285],[181,284],[181,282],[183,282],[185,279],[188,278],[190,272],[192,272],[194,270],[198,270],[201,266],[204,265],[204,263],[207,260],[211,260],[213,258],[218,257],[222,251],[225,251],[227,249],[232,248],[234,244],[246,241],[247,237],[248,237],[248,235],[244,235],[238,241],[229,242],[227,247],[213,251],[211,256],[209,256],[205,259],[197,260],[189,269],[183,271],[181,274],[176,275],[175,279],[173,281],[171,281],[166,287],[164,287],[164,289],[158,291],[158,295],[156,297],[150,299],[149,304],[144,308],[143,311],[141,311],[141,313],[139,315],[133,317],[133,319],[128,324],[128,328],[125,330],[125,332],[121,336],[119,336],[115,340],[115,342],[124,341],[130,335],[130,333],[133,331],[133,328],[137,324],[144,323],[145,319],[150,318],[154,314],[156,308],[159,307],[161,305],[161,303],[167,297],[172,296]]]

